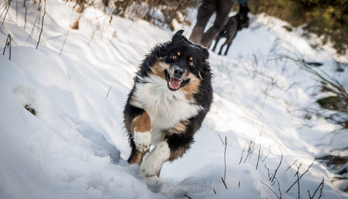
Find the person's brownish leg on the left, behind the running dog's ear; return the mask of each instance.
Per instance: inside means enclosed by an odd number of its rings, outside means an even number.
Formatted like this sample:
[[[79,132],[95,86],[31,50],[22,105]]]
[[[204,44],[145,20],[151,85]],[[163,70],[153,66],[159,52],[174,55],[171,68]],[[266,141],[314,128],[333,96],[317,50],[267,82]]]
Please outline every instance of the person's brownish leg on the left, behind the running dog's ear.
[[[193,27],[193,31],[189,40],[196,44],[200,43],[200,40],[203,37],[205,26],[207,26],[207,22],[214,13],[215,9],[216,1],[203,0],[202,5],[200,5],[198,8],[197,22],[196,25]]]

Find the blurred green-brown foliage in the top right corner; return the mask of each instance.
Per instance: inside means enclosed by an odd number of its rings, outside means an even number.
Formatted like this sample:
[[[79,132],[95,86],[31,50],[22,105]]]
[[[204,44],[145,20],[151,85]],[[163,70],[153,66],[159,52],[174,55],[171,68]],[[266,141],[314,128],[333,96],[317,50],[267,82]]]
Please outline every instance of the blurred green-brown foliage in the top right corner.
[[[339,54],[348,47],[348,0],[249,0],[251,12],[266,13],[289,22],[305,25],[309,33],[331,41]]]

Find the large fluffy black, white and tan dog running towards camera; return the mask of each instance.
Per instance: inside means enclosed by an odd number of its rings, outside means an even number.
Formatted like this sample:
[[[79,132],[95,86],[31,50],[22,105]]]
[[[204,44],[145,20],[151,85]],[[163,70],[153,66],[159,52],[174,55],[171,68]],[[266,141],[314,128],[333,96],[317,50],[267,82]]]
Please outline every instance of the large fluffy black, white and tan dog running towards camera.
[[[212,103],[209,52],[183,32],[145,57],[123,111],[132,147],[128,162],[139,164],[145,177],[159,176],[164,162],[182,157]]]

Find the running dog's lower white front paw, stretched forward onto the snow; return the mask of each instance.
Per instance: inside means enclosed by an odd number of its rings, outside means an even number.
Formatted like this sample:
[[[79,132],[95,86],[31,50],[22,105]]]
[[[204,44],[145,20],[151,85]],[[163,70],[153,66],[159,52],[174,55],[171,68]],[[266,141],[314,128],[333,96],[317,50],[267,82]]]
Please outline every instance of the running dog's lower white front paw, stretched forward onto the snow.
[[[151,152],[145,157],[140,166],[141,174],[145,177],[159,175],[162,165],[169,159],[171,150],[168,143],[160,142]]]

